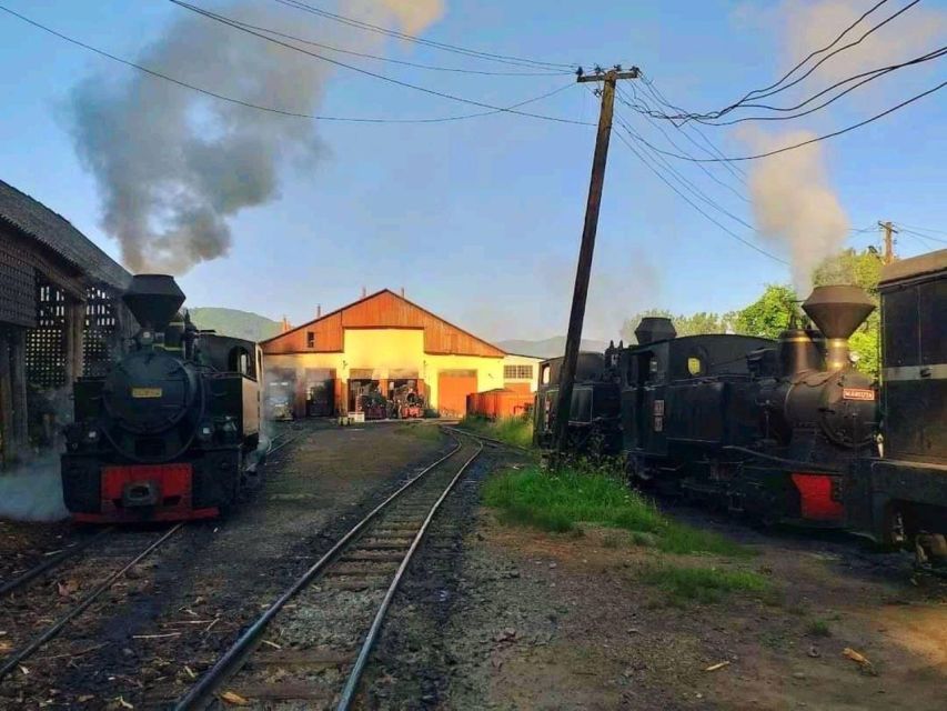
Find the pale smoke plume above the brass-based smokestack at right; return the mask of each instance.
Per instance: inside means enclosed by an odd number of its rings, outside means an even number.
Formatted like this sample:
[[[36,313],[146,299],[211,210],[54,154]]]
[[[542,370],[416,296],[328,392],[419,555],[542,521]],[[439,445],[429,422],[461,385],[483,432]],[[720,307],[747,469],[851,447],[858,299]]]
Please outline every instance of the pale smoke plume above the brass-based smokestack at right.
[[[743,138],[754,152],[765,153],[815,134],[743,131]],[[849,230],[848,217],[828,183],[822,148],[812,143],[753,161],[747,186],[757,231],[789,256],[796,293],[807,296],[813,271],[844,247]]]

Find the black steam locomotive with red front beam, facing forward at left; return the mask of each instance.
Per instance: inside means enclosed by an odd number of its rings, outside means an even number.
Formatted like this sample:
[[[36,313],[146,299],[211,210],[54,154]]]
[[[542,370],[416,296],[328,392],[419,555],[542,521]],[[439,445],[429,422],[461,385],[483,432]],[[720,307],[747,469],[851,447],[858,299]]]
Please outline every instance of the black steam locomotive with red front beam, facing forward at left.
[[[171,277],[138,274],[122,300],[141,330],[104,378],[75,382],[66,505],[85,522],[218,515],[259,481],[256,346],[194,328]]]

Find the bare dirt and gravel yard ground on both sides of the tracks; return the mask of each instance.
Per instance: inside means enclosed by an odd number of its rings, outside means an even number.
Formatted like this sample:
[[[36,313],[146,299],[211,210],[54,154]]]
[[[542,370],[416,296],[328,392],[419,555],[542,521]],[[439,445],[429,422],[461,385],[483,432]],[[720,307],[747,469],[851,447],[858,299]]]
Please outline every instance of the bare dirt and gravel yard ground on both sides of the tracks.
[[[0,680],[0,709],[169,708],[355,521],[452,447],[427,424],[305,423],[282,441],[254,501],[184,527],[119,579]],[[655,520],[619,502],[611,528],[503,509],[497,482],[533,465],[487,448],[444,500],[356,708],[947,708],[947,583],[914,573],[906,557],[691,509]],[[484,505],[485,489],[501,508]],[[4,595],[0,663],[167,530],[103,535]],[[83,534],[0,522],[0,581]],[[301,594],[274,619],[265,651],[291,660],[306,632],[326,625],[321,605],[306,604],[316,599]],[[286,673],[262,667],[258,681]],[[263,705],[240,683],[220,688],[233,708],[332,702]]]

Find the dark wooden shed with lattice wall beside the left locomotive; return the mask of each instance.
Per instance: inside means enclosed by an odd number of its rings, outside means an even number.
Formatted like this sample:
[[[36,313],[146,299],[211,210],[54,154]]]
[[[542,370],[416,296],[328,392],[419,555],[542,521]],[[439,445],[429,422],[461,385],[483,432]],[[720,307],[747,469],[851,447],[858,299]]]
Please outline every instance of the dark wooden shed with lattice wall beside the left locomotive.
[[[53,443],[69,389],[134,329],[131,276],[66,218],[0,181],[0,467]]]

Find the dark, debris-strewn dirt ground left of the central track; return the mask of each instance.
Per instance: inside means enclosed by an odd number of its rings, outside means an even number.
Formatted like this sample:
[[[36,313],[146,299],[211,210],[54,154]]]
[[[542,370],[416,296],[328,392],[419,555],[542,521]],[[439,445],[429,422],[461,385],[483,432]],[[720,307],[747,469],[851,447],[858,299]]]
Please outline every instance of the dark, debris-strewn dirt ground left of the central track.
[[[254,501],[225,520],[189,525],[26,662],[27,672],[3,680],[0,709],[168,708],[366,509],[449,447],[396,425],[306,424],[302,432],[273,457]],[[4,530],[4,545],[31,552],[70,535],[61,527]],[[53,598],[67,584],[69,598],[56,602],[63,608],[99,582],[98,563],[108,558],[90,552],[38,584]],[[17,604],[31,609],[50,597],[31,594]],[[0,605],[0,631],[11,641],[50,621]]]

